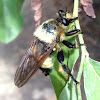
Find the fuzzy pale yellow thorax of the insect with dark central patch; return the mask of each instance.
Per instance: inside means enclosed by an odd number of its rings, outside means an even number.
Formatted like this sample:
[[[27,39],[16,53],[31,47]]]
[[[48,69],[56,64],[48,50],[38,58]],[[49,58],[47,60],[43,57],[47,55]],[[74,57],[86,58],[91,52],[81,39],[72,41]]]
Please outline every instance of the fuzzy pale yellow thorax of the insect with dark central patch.
[[[62,29],[56,20],[49,19],[42,23],[33,35],[39,40],[51,44],[59,38],[61,30]]]

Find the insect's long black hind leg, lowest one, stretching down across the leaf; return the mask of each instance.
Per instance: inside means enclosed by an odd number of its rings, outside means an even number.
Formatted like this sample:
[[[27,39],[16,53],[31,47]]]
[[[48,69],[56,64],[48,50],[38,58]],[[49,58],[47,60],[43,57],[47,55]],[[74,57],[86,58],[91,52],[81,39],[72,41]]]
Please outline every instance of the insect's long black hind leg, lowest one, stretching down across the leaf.
[[[72,80],[76,83],[76,85],[79,83],[78,81],[76,81],[76,79],[73,77],[73,75],[71,74],[71,71],[68,69],[68,67],[63,63],[64,62],[64,55],[63,55],[63,51],[59,51],[57,54],[57,59],[59,61],[59,63],[62,65],[62,68],[64,71],[66,71],[69,76],[72,78]]]

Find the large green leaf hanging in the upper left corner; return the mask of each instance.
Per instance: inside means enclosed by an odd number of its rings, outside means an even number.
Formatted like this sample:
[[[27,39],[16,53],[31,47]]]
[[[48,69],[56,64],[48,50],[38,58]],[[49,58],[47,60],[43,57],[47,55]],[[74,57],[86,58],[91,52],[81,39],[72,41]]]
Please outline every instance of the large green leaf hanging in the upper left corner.
[[[0,0],[0,41],[3,43],[14,40],[22,29],[23,18],[21,9],[17,10],[20,4],[18,2],[16,0]]]

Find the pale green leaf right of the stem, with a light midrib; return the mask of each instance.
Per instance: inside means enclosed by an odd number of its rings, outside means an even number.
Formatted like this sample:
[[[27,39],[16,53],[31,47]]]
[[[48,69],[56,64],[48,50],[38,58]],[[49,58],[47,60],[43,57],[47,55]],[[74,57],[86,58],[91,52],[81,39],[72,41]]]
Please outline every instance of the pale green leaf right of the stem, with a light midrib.
[[[100,62],[91,58],[84,62],[84,88],[87,100],[100,100]]]

